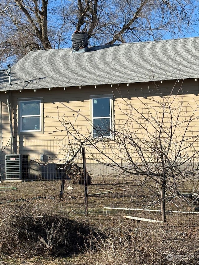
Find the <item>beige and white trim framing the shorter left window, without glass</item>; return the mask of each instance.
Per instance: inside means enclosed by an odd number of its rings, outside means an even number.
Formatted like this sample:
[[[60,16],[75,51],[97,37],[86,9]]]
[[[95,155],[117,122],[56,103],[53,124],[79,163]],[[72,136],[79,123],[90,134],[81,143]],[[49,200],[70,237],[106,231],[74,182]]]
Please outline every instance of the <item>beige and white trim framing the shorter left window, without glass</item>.
[[[40,101],[40,115],[24,115],[25,117],[40,117],[40,130],[22,130],[21,102]],[[44,133],[44,111],[43,98],[18,98],[18,134],[43,134]]]

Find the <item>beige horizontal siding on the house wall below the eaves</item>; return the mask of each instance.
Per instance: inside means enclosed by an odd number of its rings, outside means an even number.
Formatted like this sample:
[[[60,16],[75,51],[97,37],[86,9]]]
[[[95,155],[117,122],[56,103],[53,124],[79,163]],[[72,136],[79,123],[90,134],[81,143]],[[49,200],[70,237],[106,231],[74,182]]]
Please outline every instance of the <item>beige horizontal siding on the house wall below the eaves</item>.
[[[175,84],[174,81],[163,81],[162,84],[158,82],[156,85],[158,85],[159,89],[164,92],[164,94],[169,94],[175,85],[173,89],[173,96],[169,98],[169,102],[174,100],[174,103],[172,103],[174,115],[177,115],[179,107],[181,107],[179,121],[183,124],[188,115],[191,115],[193,109],[198,104],[198,82],[195,80],[184,80],[182,84],[182,80],[180,80],[179,83],[177,82]],[[154,128],[152,122],[145,124],[145,126],[147,126],[147,131],[141,128],[141,115],[139,115],[136,110],[145,114],[146,117],[150,117],[152,115],[156,119],[161,119],[163,109],[159,107],[158,102],[161,102],[162,98],[160,98],[158,94],[155,94],[156,92],[157,89],[155,89],[152,82],[147,84],[129,84],[129,86],[127,86],[127,84],[119,86],[113,85],[113,87],[110,87],[110,85],[103,85],[98,86],[96,89],[94,87],[82,87],[81,89],[67,88],[66,90],[63,88],[57,88],[50,91],[48,89],[38,89],[36,92],[25,90],[21,93],[19,93],[19,91],[12,91],[10,101],[12,106],[12,122],[14,127],[15,142],[17,144],[17,152],[30,153],[31,157],[35,159],[39,159],[40,153],[46,153],[54,160],[65,159],[67,156],[67,150],[65,150],[65,147],[68,138],[66,137],[66,129],[63,126],[63,123],[67,123],[68,121],[73,122],[74,127],[81,132],[83,138],[89,135],[91,124],[90,95],[113,94],[115,127],[120,130],[126,130],[129,133],[135,132],[139,135],[139,137],[150,137],[150,133],[157,133],[156,128]],[[10,139],[10,125],[6,102],[7,94],[1,94],[2,140],[5,145]],[[178,95],[176,96],[176,94]],[[18,134],[17,102],[18,100],[25,98],[43,98],[43,134]],[[157,103],[155,103],[154,100],[157,101]],[[181,106],[181,101],[183,101],[183,107]],[[133,106],[134,109],[131,106]],[[135,121],[132,122],[131,119],[128,120],[127,115],[133,115]],[[164,115],[165,120],[163,126],[166,130],[166,127],[170,125],[169,113],[164,113]],[[176,118],[174,118],[174,122],[175,119]],[[198,120],[192,123],[192,130],[189,131],[187,136],[194,133],[196,134],[197,131]],[[178,126],[174,137],[178,137],[178,135],[182,134],[183,130],[181,126]],[[72,139],[71,136],[69,138]],[[61,139],[64,139],[64,141],[60,143]],[[109,153],[111,158],[116,156],[118,162],[123,162],[125,160],[124,150],[120,150],[121,146],[113,145],[112,148],[108,148],[99,144],[99,148],[101,148],[100,150],[103,150],[103,152]],[[9,153],[9,148],[7,148],[7,152]],[[100,154],[96,150],[93,150],[92,152],[95,152],[95,155],[98,158],[103,157],[103,154]],[[132,153],[134,157],[137,156],[136,150],[130,148],[129,152]],[[138,156],[137,159],[139,159]]]

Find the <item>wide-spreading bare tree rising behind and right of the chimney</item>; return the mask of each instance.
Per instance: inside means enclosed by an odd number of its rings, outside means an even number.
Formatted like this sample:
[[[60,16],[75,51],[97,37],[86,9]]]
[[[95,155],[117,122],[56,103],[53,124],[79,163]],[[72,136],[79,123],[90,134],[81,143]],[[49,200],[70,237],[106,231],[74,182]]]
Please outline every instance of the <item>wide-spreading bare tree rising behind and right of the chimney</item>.
[[[72,2],[67,20],[90,44],[183,37],[197,25],[196,1],[92,0]]]

